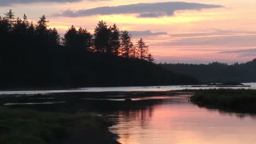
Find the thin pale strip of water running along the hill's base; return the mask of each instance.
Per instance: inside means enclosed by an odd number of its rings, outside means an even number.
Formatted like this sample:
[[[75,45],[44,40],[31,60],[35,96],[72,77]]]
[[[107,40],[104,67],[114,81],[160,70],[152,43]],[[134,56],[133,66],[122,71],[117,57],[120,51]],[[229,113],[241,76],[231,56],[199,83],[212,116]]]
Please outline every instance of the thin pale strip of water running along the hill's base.
[[[243,83],[251,87],[209,87],[206,85],[189,86],[146,86],[146,87],[89,87],[73,88],[66,90],[48,90],[48,91],[0,91],[0,94],[46,94],[46,93],[67,93],[67,92],[135,92],[135,91],[174,91],[181,89],[210,89],[210,88],[252,88],[256,89],[256,83]]]

